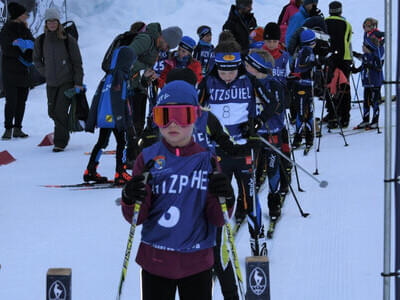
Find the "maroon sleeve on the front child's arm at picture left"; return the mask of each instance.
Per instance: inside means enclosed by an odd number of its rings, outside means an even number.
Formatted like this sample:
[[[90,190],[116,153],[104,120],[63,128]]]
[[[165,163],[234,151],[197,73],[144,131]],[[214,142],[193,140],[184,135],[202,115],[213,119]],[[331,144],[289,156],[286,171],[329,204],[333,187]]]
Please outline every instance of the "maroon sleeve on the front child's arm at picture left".
[[[132,174],[133,175],[142,174],[143,169],[144,169],[143,154],[140,153],[135,161],[135,166],[133,167]],[[151,187],[150,187],[150,185],[146,184],[146,190],[147,190],[147,196],[140,208],[139,218],[138,218],[138,222],[137,222],[138,225],[142,224],[143,221],[146,220],[147,216],[149,215],[149,210],[150,210],[150,206],[151,206]],[[127,205],[123,201],[121,201],[122,214],[123,214],[125,220],[127,220],[129,223],[132,222],[134,208],[135,208],[135,204]]]

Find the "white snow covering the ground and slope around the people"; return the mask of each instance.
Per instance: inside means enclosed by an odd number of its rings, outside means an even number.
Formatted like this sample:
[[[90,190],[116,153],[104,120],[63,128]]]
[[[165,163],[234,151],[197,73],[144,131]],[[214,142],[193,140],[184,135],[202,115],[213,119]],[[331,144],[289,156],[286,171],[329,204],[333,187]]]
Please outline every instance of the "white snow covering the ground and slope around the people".
[[[142,20],[160,22],[163,27],[179,25],[184,34],[196,39],[196,28],[207,24],[213,28],[215,43],[232,2],[68,1],[69,16],[79,26],[88,99],[103,76],[100,63],[107,46],[131,23]],[[287,2],[255,0],[259,25],[276,21]],[[319,5],[326,16],[328,3],[320,1]],[[396,12],[397,7],[393,8]],[[362,21],[373,16],[383,30],[384,3],[344,1],[344,16],[353,25],[353,49],[361,51]],[[393,19],[397,20],[396,14]],[[394,28],[393,41],[397,41],[397,27]],[[397,42],[393,52],[397,52]],[[3,110],[2,99],[0,111]],[[381,111],[380,123],[384,124],[383,106]],[[1,124],[3,118],[1,114]],[[354,106],[350,128],[360,120],[358,106]],[[44,87],[29,95],[24,130],[30,134],[28,139],[0,140],[0,151],[8,150],[17,159],[0,167],[0,299],[43,299],[46,271],[52,267],[72,268],[73,299],[114,298],[129,232],[129,225],[114,204],[120,191],[40,187],[81,182],[89,159],[83,153],[92,149],[97,134],[73,134],[64,153],[37,147],[44,135],[52,132]],[[304,210],[311,213],[309,218],[300,216],[291,195],[286,199],[282,220],[268,244],[272,299],[381,298],[384,135],[371,131],[350,135],[347,140],[349,147],[343,146],[337,133],[325,133],[321,140],[318,169],[319,177],[329,181],[327,189],[320,189],[313,180],[300,175],[306,193],[297,196]],[[115,149],[113,138],[108,149]],[[299,163],[311,172],[315,170],[313,152],[306,158],[300,152],[296,154]],[[114,167],[112,156],[102,157],[101,174],[112,177]],[[293,187],[297,191],[295,181]],[[266,195],[267,188],[260,194],[264,208]],[[134,262],[139,238],[140,227],[124,299],[140,298],[140,269]],[[244,271],[245,256],[250,254],[246,228],[239,233],[237,247]],[[223,299],[218,284],[215,299]]]

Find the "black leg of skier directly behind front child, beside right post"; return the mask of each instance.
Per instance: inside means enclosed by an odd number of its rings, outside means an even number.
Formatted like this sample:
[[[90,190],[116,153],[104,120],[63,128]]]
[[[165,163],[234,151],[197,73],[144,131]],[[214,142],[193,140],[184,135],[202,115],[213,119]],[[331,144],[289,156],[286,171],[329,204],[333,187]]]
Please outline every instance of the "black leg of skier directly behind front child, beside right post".
[[[229,260],[228,241],[225,227],[218,227],[216,246],[214,247],[214,270],[221,285],[224,300],[238,300],[235,274]]]

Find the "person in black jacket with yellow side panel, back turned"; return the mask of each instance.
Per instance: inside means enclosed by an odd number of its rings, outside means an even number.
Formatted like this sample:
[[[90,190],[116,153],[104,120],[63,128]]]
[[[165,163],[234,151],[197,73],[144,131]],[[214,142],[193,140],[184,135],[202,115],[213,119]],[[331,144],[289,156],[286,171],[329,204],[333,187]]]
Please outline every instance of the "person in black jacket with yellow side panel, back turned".
[[[340,69],[349,81],[353,62],[351,51],[352,28],[350,23],[342,17],[342,3],[339,1],[329,3],[329,14],[330,16],[325,19],[325,23],[331,38],[331,68],[333,71],[337,68]],[[350,84],[340,85],[339,95],[340,97],[336,97],[338,99],[336,111],[339,117],[337,121],[340,121],[342,127],[347,127],[351,108]],[[334,118],[333,112],[332,108],[328,106],[328,119]],[[336,127],[335,122],[330,123],[331,127]]]

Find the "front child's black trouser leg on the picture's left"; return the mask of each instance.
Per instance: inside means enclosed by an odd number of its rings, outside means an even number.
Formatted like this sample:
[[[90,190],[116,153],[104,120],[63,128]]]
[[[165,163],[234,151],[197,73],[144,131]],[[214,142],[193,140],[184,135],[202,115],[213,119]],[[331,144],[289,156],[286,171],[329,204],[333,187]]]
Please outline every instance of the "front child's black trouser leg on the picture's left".
[[[142,269],[142,300],[175,300],[177,281]]]

